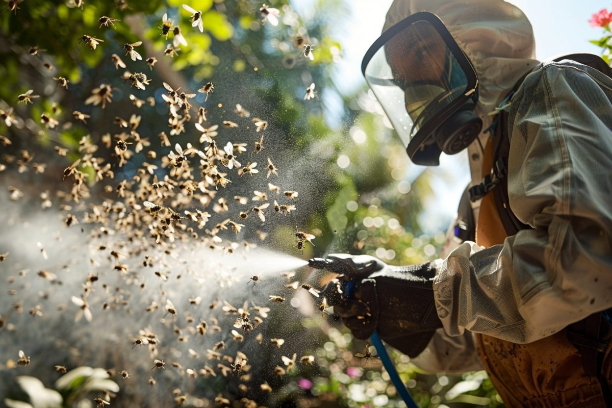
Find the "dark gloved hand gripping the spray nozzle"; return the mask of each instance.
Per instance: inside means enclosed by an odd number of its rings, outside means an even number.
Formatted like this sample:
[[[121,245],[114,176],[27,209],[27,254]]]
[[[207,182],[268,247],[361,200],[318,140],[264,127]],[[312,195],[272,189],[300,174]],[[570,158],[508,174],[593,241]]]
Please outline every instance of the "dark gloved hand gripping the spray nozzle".
[[[395,267],[368,255],[331,254],[308,263],[340,274],[321,295],[356,338],[367,339],[376,329],[391,346],[416,357],[442,327],[433,299],[434,262]],[[355,282],[350,297],[342,281]]]

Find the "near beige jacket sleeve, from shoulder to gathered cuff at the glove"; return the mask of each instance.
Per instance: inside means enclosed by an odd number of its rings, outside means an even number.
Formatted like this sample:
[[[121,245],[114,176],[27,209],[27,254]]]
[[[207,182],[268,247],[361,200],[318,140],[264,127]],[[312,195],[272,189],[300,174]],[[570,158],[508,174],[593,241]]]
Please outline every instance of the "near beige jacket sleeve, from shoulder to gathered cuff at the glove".
[[[510,208],[534,229],[465,242],[436,272],[438,316],[513,343],[612,307],[612,80],[573,61],[543,64],[513,98]]]

